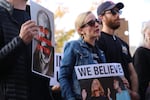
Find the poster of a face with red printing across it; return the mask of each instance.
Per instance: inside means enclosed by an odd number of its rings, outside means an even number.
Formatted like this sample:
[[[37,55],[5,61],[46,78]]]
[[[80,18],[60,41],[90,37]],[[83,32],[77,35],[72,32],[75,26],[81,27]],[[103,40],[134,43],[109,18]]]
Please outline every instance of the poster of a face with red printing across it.
[[[54,14],[30,0],[31,20],[39,26],[39,34],[32,41],[32,71],[54,76]]]

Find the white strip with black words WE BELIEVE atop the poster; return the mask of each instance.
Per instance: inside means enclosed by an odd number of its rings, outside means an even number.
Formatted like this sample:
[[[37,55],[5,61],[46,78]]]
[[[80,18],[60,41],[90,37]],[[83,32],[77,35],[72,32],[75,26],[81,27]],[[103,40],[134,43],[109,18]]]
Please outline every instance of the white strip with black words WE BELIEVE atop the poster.
[[[124,76],[124,72],[120,63],[75,66],[75,71],[79,80],[88,78]]]

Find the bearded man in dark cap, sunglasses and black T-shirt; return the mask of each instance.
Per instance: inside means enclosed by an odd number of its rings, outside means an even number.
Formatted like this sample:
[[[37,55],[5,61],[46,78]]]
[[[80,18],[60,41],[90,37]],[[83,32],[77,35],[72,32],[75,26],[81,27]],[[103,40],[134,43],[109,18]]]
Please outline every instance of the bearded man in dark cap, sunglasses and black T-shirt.
[[[98,19],[101,20],[101,36],[97,40],[97,45],[105,52],[108,63],[120,63],[122,65],[126,80],[123,82],[128,87],[133,100],[139,100],[138,76],[132,63],[129,45],[115,35],[115,30],[120,27],[121,9],[124,8],[122,2],[113,3],[105,1],[97,8]]]

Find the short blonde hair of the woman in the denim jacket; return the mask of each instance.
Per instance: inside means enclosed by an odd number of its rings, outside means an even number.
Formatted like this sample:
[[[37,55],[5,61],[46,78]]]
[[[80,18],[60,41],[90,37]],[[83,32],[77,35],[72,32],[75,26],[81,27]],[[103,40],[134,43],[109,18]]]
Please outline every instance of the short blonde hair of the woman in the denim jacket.
[[[90,13],[92,13],[92,12],[87,11],[87,12],[80,13],[75,20],[75,29],[81,36],[82,36],[82,34],[78,30],[81,28],[82,25],[85,24],[85,19]]]

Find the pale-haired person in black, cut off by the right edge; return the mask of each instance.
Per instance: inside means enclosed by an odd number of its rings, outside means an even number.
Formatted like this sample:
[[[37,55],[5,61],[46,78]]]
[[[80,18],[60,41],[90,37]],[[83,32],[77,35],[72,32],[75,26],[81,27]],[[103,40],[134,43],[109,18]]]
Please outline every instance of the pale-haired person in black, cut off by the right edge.
[[[145,100],[146,89],[150,82],[150,21],[142,26],[142,44],[134,53],[134,66],[139,78],[139,89],[141,100]]]

